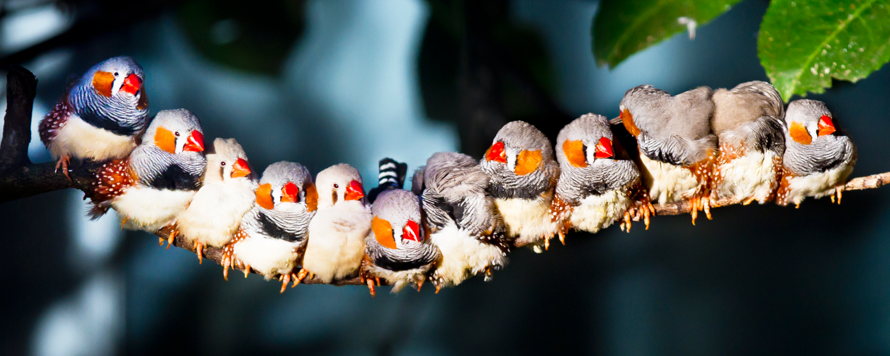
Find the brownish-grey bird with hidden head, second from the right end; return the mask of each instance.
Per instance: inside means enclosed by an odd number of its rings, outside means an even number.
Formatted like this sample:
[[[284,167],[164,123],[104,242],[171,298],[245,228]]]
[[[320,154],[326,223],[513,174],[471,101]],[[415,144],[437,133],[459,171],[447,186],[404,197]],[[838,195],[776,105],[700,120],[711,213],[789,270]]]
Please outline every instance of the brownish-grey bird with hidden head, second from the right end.
[[[769,83],[754,81],[713,95],[711,129],[720,142],[711,198],[745,205],[773,200],[785,152],[785,108]]]

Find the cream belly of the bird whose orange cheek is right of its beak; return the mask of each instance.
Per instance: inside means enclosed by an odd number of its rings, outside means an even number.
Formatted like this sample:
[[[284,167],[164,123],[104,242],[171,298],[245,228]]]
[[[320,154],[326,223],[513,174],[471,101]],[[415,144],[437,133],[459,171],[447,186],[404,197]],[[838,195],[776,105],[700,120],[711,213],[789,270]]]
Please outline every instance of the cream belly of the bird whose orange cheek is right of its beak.
[[[521,198],[496,198],[495,206],[504,218],[507,233],[516,238],[517,244],[527,244],[540,239],[552,238],[557,224],[550,219],[552,198],[534,200]]]

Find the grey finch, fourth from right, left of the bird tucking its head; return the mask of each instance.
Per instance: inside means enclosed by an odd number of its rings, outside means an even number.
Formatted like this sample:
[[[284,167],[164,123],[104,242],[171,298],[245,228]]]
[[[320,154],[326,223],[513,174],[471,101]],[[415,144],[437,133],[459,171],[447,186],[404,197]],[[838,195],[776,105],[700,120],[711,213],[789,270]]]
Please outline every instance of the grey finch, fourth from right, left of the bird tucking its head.
[[[561,235],[570,228],[600,231],[621,218],[621,230],[629,231],[632,216],[639,215],[649,228],[655,208],[636,164],[614,142],[605,117],[587,114],[562,127],[556,137],[556,160],[560,178],[553,211],[561,222]]]

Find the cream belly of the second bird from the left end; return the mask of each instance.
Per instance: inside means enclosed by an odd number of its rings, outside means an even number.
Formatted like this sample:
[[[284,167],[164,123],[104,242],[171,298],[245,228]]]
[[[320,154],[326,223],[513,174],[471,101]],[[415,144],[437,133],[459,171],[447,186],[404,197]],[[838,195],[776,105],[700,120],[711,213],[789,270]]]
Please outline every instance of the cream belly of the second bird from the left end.
[[[155,232],[173,223],[182,213],[191,198],[193,190],[156,190],[147,187],[132,187],[111,201],[111,207],[126,218],[125,228]]]

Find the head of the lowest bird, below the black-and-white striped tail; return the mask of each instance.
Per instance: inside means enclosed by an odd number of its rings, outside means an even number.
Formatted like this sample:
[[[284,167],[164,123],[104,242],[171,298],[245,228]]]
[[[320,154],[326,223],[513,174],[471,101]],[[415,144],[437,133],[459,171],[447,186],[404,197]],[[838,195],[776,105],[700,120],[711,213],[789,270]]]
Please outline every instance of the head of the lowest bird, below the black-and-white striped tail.
[[[409,190],[385,190],[371,206],[371,231],[382,247],[401,249],[421,244],[426,238],[421,229],[420,201]]]

